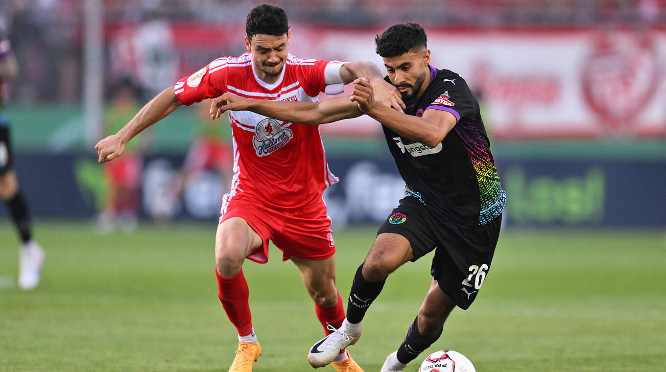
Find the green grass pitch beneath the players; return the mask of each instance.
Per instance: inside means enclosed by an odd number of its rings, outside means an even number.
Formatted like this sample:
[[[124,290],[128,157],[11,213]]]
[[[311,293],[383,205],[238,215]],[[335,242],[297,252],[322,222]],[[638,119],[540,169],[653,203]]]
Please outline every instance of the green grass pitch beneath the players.
[[[237,339],[216,297],[214,228],[100,236],[89,222],[37,222],[43,281],[21,291],[17,238],[0,222],[0,371],[226,371]],[[374,228],[335,234],[343,297]],[[244,266],[263,349],[254,371],[312,371],[322,328],[298,272],[271,249],[269,264]],[[431,257],[390,276],[368,311],[350,347],[365,371],[400,345]],[[480,372],[666,371],[665,265],[663,231],[505,230],[478,299],[454,310],[428,352],[460,351]]]

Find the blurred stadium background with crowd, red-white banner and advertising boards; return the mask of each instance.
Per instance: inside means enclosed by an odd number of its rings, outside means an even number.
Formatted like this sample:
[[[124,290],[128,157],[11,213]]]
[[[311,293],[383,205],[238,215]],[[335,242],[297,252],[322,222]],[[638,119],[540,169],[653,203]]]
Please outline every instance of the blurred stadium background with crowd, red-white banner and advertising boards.
[[[286,9],[290,51],[302,58],[381,67],[374,35],[421,23],[433,64],[461,73],[482,103],[508,224],[666,226],[657,208],[666,196],[666,0],[269,2]],[[230,128],[207,120],[206,104],[142,134],[121,169],[97,164],[93,146],[181,77],[244,53],[254,5],[0,1],[0,33],[20,67],[3,93],[35,217],[93,217],[101,230],[114,221],[131,230],[137,218],[214,220],[231,172]],[[327,192],[334,224],[383,220],[402,182],[378,124],[361,118],[322,133],[341,178]]]

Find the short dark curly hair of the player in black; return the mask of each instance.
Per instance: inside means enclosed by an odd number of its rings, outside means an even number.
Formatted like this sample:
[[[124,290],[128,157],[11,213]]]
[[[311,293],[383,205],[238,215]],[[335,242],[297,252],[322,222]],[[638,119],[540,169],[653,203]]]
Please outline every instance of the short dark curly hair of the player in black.
[[[382,57],[396,57],[418,47],[427,48],[426,31],[418,23],[390,25],[375,37],[376,52]]]

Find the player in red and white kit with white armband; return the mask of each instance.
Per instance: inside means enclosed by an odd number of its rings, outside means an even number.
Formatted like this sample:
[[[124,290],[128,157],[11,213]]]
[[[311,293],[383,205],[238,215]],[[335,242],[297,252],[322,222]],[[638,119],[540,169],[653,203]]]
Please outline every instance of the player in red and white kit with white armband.
[[[378,100],[404,108],[400,93],[382,79],[373,63],[298,59],[287,53],[289,36],[284,10],[257,5],[246,21],[248,53],[216,59],[158,94],[117,134],[95,146],[99,162],[120,156],[127,141],[180,104],[224,93],[316,102],[327,85],[370,77]],[[328,170],[318,126],[246,111],[230,112],[230,124],[234,177],[222,200],[215,275],[222,307],[238,331],[238,350],[229,371],[246,372],[252,371],[261,349],[252,328],[242,264],[246,258],[267,262],[268,240],[282,250],[282,260],[291,260],[298,268],[324,332],[342,324],[345,313],[335,287],[335,244],[322,196],[324,188],[338,179]],[[345,350],[332,365],[338,371],[362,371]]]

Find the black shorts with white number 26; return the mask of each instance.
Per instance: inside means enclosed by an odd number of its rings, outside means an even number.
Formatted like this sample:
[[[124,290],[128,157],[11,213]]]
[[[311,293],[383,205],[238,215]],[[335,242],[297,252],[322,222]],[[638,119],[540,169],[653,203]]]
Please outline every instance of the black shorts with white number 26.
[[[412,262],[435,250],[432,278],[458,307],[467,309],[490,270],[500,225],[501,214],[483,226],[462,228],[408,196],[400,200],[377,234],[404,236],[412,245]]]

